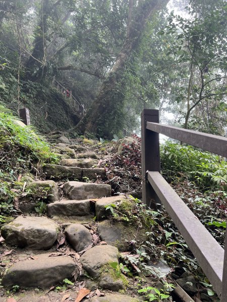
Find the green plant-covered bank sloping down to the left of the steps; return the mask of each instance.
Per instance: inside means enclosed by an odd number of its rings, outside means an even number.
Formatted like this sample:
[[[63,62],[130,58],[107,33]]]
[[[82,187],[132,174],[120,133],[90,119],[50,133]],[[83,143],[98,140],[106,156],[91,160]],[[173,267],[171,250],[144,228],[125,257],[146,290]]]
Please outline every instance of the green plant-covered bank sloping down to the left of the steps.
[[[23,127],[12,112],[0,104],[0,221],[14,211],[19,187],[31,181],[30,172],[38,172],[45,162],[58,158],[45,140],[29,126]]]

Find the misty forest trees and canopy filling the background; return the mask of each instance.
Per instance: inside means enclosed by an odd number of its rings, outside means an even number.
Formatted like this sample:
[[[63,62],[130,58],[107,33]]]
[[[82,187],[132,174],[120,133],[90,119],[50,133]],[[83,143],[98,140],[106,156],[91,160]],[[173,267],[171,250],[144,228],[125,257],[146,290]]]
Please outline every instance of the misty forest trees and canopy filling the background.
[[[75,131],[112,138],[159,108],[223,134],[226,2],[168,2],[0,1],[1,100],[26,105],[55,77],[88,109]]]

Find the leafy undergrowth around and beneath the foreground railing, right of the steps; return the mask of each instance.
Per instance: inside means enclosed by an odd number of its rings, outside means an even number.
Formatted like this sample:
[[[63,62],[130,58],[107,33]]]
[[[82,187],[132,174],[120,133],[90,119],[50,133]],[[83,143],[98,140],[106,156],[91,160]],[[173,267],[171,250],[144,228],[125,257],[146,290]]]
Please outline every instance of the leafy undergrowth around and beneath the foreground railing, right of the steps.
[[[122,153],[113,155],[106,164],[109,178],[107,183],[111,184],[116,192],[123,185],[130,184],[129,179],[133,175],[134,187],[129,187],[130,192],[136,196],[134,188],[141,188],[141,160],[140,154],[135,151],[139,147],[140,139],[137,138],[136,145],[135,143],[124,145]],[[161,145],[160,155],[163,177],[217,242],[224,247],[227,208],[226,161],[193,146],[172,141],[166,141]],[[132,252],[123,259],[130,270],[127,273],[135,275],[138,272],[149,271],[149,274],[158,276],[160,272],[151,268],[149,263],[161,258],[173,269],[171,276],[174,279],[180,278],[184,272],[190,273],[196,280],[198,292],[207,298],[207,301],[217,301],[212,286],[164,207],[161,211],[147,210],[139,199],[133,196],[131,198],[135,201],[131,211],[122,211],[116,205],[107,208],[111,211],[113,219],[122,220],[124,223],[136,223],[138,227],[143,225],[148,230],[147,240],[142,245],[137,238],[130,242]],[[169,277],[160,280],[163,284],[172,282]],[[143,286],[145,289],[142,291],[139,289],[139,292],[143,292],[148,298],[154,298],[150,291],[146,290],[147,284]],[[163,297],[168,294],[167,291],[159,291],[158,294],[161,293]]]

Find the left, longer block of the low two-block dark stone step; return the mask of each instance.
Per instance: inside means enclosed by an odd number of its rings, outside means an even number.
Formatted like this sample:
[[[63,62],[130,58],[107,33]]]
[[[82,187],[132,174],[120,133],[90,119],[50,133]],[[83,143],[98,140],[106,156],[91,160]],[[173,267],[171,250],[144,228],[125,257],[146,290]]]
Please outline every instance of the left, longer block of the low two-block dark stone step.
[[[61,165],[45,164],[42,168],[47,178],[53,179],[81,179],[82,169],[78,167],[66,167]]]

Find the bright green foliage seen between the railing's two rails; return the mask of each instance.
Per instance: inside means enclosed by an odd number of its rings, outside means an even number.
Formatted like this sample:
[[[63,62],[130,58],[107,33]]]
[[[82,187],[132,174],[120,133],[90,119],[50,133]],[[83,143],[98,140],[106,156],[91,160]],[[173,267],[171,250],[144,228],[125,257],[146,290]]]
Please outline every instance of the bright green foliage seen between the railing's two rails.
[[[169,182],[188,178],[200,190],[226,190],[227,163],[193,146],[166,141],[160,147],[161,171]]]

